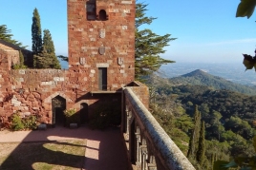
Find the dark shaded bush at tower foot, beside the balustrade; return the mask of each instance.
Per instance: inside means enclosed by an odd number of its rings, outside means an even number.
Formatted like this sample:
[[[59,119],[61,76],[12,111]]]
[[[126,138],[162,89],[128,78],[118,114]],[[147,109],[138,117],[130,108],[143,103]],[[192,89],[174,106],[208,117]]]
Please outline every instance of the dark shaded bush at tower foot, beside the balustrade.
[[[109,126],[118,126],[121,121],[119,102],[105,103],[98,106],[90,117],[89,125],[93,129],[105,129]]]

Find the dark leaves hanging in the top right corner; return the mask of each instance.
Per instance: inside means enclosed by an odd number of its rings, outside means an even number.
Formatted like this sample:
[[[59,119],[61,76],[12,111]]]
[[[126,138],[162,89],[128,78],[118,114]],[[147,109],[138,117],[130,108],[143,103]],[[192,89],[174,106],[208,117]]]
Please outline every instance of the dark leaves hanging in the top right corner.
[[[256,0],[241,0],[237,8],[236,17],[247,17],[249,18],[256,6]]]

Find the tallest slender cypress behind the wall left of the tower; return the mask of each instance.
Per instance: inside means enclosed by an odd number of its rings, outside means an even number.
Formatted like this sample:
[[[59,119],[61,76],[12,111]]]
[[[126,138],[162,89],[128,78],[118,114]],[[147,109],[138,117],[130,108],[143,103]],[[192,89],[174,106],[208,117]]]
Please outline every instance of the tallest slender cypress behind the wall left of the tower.
[[[32,51],[38,54],[42,51],[42,30],[40,15],[35,8],[32,12]]]

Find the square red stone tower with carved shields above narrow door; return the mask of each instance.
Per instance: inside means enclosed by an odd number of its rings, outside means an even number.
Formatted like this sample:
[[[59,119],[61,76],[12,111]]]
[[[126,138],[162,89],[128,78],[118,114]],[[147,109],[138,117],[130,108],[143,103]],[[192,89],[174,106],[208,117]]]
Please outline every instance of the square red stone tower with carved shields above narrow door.
[[[134,81],[135,0],[68,0],[70,82],[84,92]]]

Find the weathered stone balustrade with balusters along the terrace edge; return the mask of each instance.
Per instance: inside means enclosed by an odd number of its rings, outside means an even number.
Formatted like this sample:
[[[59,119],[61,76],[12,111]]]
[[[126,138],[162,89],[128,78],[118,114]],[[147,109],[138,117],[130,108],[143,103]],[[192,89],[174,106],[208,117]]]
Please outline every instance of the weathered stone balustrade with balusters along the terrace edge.
[[[147,106],[140,102],[137,91],[125,87],[122,95],[122,131],[133,169],[195,170]]]

